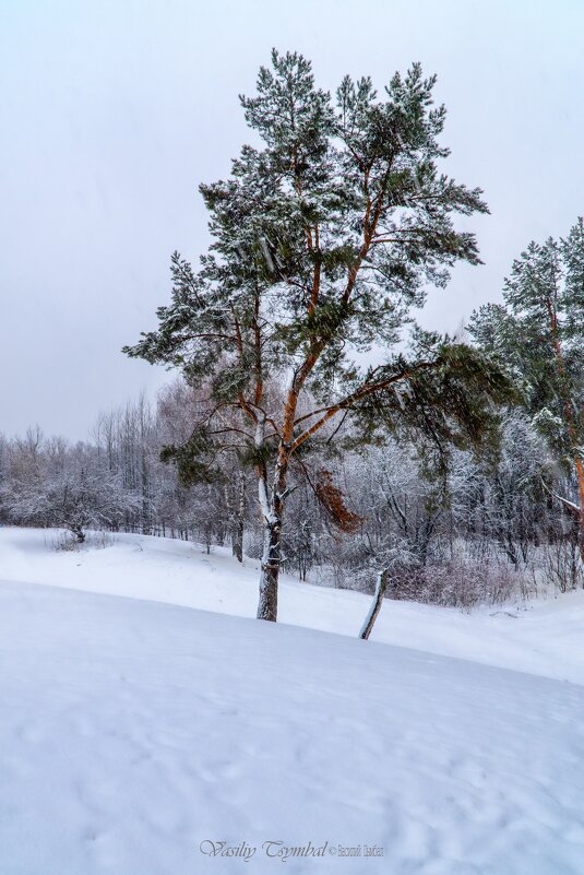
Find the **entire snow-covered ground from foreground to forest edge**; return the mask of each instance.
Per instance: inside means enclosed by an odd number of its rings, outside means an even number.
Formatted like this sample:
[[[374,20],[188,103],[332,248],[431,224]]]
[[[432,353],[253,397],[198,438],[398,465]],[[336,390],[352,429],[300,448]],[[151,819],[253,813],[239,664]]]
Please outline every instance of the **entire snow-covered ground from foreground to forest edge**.
[[[584,872],[582,593],[362,642],[358,593],[287,579],[274,626],[251,561],[53,540],[0,530],[0,875]]]

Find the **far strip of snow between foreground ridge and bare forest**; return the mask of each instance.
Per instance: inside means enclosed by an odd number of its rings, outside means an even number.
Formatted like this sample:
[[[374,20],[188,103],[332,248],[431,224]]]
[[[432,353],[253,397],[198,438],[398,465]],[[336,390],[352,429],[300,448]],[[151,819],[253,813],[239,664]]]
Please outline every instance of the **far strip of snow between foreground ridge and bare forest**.
[[[191,543],[118,534],[104,549],[59,553],[57,540],[53,531],[0,529],[0,578],[255,616],[258,564],[241,568],[226,549],[207,556]],[[284,577],[279,618],[356,636],[369,604],[357,592]],[[386,600],[372,640],[584,684],[584,593],[470,615]]]

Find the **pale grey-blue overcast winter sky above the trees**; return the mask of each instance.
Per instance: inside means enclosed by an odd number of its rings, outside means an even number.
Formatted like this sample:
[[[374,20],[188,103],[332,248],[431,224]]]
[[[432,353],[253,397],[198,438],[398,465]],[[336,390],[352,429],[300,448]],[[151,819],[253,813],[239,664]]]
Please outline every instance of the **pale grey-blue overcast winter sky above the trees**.
[[[419,319],[454,331],[532,239],[584,213],[580,0],[0,0],[0,431],[85,439],[171,378],[122,345],[156,326],[169,257],[208,244],[198,186],[250,140],[272,47],[382,88],[420,61],[448,108],[445,169],[485,190],[460,265]]]

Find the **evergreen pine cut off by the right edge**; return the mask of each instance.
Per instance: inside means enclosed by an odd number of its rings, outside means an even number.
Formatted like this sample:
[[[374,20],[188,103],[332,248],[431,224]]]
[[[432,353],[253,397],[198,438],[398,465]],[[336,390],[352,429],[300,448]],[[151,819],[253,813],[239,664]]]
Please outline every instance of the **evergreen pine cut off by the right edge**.
[[[565,239],[531,243],[505,280],[504,306],[474,314],[470,332],[504,357],[526,387],[534,424],[575,480],[579,499],[559,500],[577,518],[584,560],[584,223]]]

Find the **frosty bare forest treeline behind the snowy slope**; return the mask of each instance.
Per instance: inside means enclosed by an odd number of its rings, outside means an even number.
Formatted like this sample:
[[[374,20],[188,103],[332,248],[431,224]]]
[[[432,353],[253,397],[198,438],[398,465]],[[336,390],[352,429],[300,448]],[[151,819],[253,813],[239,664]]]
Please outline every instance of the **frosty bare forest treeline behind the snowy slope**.
[[[189,487],[160,460],[160,447],[184,444],[200,414],[200,393],[177,380],[155,404],[140,398],[102,414],[90,441],[38,428],[0,438],[1,522],[64,528],[71,546],[94,530],[122,531],[259,558],[255,483],[237,457],[221,476]],[[339,531],[299,468],[283,553],[284,570],[301,580],[369,592],[379,568],[390,567],[390,596],[463,607],[584,582],[577,517],[555,498],[573,495],[575,480],[524,410],[502,415],[491,454],[457,450],[443,472],[391,439],[333,461],[323,453],[326,465],[350,522]]]

